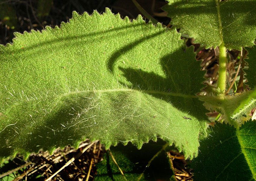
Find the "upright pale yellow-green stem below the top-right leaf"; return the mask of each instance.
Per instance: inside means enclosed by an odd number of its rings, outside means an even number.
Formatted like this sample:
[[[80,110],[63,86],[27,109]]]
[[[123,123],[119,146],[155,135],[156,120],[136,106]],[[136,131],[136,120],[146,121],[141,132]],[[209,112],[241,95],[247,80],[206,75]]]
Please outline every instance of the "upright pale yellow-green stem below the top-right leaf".
[[[222,43],[219,47],[220,60],[219,60],[219,78],[217,86],[220,88],[221,93],[226,90],[226,47]]]

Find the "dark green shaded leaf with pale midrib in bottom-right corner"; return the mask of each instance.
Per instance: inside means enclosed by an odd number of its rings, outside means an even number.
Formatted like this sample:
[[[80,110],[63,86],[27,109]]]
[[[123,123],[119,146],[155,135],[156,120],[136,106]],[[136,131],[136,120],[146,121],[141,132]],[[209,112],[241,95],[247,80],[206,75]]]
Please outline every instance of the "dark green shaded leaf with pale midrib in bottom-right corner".
[[[200,143],[192,160],[194,180],[256,180],[256,122],[248,121],[240,130],[216,124]]]

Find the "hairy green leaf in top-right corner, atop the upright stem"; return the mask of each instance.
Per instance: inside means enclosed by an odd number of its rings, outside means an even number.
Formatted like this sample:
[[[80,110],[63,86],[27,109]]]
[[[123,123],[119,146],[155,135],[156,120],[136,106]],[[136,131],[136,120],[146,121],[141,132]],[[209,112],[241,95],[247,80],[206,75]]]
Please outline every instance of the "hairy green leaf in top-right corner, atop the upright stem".
[[[254,45],[256,38],[256,1],[228,0],[168,0],[164,11],[171,17],[171,24],[180,32],[195,38],[196,43],[206,48],[226,48]],[[219,3],[219,4],[218,4]]]

